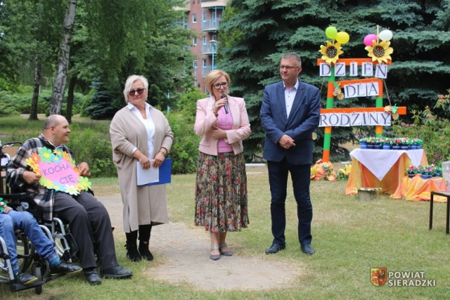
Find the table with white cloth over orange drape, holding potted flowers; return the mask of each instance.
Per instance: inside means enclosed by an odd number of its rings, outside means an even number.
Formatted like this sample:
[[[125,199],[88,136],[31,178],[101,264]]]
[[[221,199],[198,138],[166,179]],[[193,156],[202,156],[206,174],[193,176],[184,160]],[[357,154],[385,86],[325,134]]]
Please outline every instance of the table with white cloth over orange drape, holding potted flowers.
[[[352,170],[345,193],[356,195],[358,188],[381,188],[382,193],[395,193],[407,167],[428,165],[423,149],[373,150],[355,149],[350,152]]]

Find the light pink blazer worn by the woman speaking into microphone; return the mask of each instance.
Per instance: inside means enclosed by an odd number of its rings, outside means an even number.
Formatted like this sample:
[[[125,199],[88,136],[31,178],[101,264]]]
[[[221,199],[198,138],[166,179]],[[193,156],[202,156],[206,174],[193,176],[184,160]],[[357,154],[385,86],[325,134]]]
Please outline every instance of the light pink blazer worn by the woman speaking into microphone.
[[[215,99],[213,96],[197,101],[197,114],[195,115],[194,131],[198,136],[203,136],[198,150],[205,154],[217,155],[218,140],[213,138],[209,131],[216,124],[217,117],[212,112]],[[228,96],[229,112],[233,117],[233,129],[226,131],[225,141],[233,147],[235,155],[243,152],[242,141],[250,136],[250,122],[243,98]]]

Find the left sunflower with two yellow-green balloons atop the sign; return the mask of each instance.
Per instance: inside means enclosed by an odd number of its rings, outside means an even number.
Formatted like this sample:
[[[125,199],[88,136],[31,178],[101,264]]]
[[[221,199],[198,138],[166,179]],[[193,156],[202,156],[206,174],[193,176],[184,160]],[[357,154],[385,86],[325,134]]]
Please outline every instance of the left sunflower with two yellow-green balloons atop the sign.
[[[347,32],[338,32],[336,27],[330,26],[325,30],[326,37],[331,41],[326,41],[326,46],[321,45],[319,52],[322,54],[322,59],[329,65],[334,65],[342,51],[341,45],[346,44],[349,40],[349,34]]]

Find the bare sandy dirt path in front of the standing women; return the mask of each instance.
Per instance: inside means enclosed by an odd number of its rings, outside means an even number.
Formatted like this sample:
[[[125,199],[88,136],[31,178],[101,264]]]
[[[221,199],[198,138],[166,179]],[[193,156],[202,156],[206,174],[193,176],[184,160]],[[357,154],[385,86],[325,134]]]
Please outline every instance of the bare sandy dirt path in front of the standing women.
[[[120,196],[99,197],[105,204],[116,228],[115,235],[124,239],[122,201]],[[221,256],[209,259],[210,240],[203,230],[187,228],[184,223],[155,226],[151,251],[164,261],[150,268],[146,275],[155,280],[187,282],[198,289],[283,289],[292,285],[304,270],[276,260],[276,256]]]

